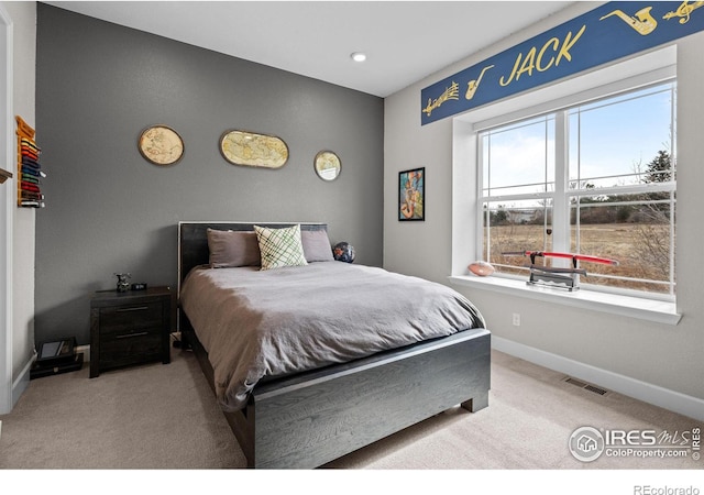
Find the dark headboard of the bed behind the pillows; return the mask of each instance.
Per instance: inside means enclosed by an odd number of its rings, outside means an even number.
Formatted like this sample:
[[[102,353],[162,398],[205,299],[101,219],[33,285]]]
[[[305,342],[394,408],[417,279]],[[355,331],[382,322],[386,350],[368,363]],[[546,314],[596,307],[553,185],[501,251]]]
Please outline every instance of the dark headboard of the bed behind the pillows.
[[[252,231],[254,226],[283,229],[296,224],[300,224],[301,230],[328,230],[327,223],[178,222],[178,295],[180,295],[180,284],[188,272],[210,261],[208,229]]]

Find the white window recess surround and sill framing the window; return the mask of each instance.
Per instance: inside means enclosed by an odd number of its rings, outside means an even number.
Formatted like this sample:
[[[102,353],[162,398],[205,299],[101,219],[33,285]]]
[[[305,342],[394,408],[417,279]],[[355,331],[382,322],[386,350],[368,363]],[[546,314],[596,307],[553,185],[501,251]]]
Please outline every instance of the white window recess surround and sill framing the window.
[[[676,301],[612,295],[592,290],[550,290],[526,284],[526,278],[477,277],[468,265],[479,260],[476,222],[476,140],[477,129],[512,119],[544,113],[598,96],[618,92],[639,85],[652,84],[676,76],[676,44],[638,54],[597,67],[554,84],[535,88],[491,105],[477,107],[451,119],[452,128],[452,206],[451,206],[451,272],[449,282],[501,296],[574,307],[586,311],[612,314],[668,326],[682,318]],[[436,124],[439,125],[439,124]]]

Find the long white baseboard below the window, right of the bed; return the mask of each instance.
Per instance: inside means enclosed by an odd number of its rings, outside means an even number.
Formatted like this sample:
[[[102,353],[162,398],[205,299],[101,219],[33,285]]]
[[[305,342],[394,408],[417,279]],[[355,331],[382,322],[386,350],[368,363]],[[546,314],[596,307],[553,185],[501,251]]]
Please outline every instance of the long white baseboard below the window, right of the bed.
[[[512,340],[492,336],[492,348],[530,363],[554,370],[575,378],[652,404],[700,421],[704,421],[704,400],[619,375],[590,364],[541,351]]]

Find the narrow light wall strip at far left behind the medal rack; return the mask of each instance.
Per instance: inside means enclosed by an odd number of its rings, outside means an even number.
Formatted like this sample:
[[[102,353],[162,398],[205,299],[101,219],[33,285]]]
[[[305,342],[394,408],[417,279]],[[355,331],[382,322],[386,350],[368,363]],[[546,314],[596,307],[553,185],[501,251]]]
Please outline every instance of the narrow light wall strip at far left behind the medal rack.
[[[34,89],[36,61],[36,3],[2,2],[12,19],[13,40],[13,112],[34,127]],[[37,135],[40,134],[37,130]],[[16,170],[11,170],[16,172]],[[16,187],[14,179],[12,186]],[[34,209],[14,208],[13,218],[13,329],[12,382],[15,393],[29,381],[28,365],[34,350]],[[26,374],[28,376],[24,376]]]

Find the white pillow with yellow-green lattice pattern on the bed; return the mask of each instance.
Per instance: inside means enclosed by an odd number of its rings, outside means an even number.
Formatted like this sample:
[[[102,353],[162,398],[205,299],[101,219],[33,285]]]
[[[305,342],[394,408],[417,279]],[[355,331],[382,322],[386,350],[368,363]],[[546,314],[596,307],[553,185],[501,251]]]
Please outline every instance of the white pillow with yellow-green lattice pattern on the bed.
[[[270,229],[254,226],[262,255],[262,270],[307,265],[300,241],[300,226]]]

